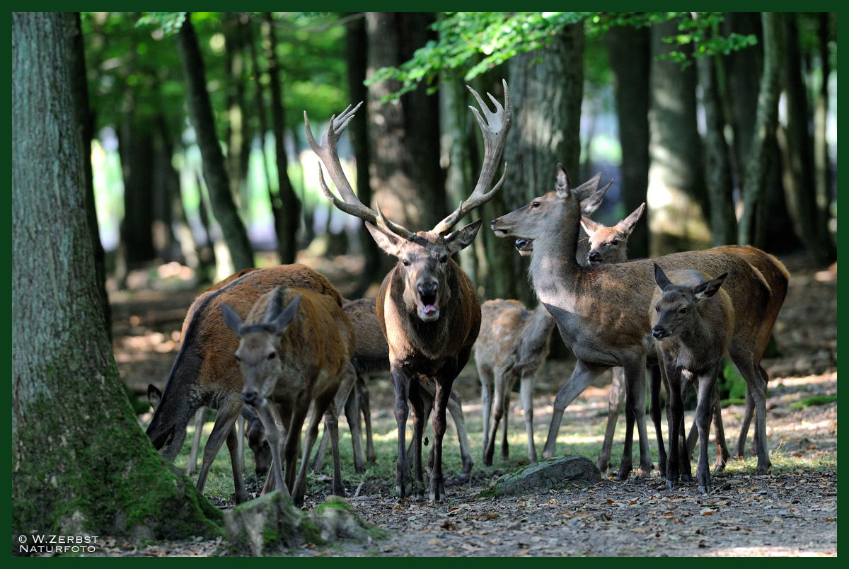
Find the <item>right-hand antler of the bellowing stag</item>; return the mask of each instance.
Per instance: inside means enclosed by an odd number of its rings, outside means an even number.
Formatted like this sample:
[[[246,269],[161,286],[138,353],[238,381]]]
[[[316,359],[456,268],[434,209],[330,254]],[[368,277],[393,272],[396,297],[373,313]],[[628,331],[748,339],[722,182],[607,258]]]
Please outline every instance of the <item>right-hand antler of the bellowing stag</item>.
[[[460,219],[465,217],[469,211],[476,207],[484,205],[487,201],[495,197],[495,193],[501,189],[504,180],[507,178],[507,164],[504,164],[504,172],[501,178],[490,189],[492,179],[498,172],[498,161],[501,160],[501,155],[504,149],[504,144],[507,141],[507,133],[510,130],[513,107],[510,104],[510,91],[507,87],[507,82],[502,80],[504,87],[504,105],[502,106],[498,99],[492,96],[492,93],[486,93],[492,102],[495,104],[495,112],[489,110],[489,106],[481,98],[481,95],[472,87],[469,92],[475,97],[475,101],[481,107],[481,111],[469,105],[472,114],[475,115],[475,120],[478,122],[478,127],[481,128],[481,135],[484,143],[484,158],[483,166],[481,166],[481,175],[475,184],[475,189],[466,200],[463,200],[456,210],[452,211],[445,219],[436,224],[433,231],[439,234],[444,234],[451,230]],[[483,116],[481,116],[481,112]],[[484,118],[486,117],[486,119]],[[488,191],[487,191],[488,189]]]

